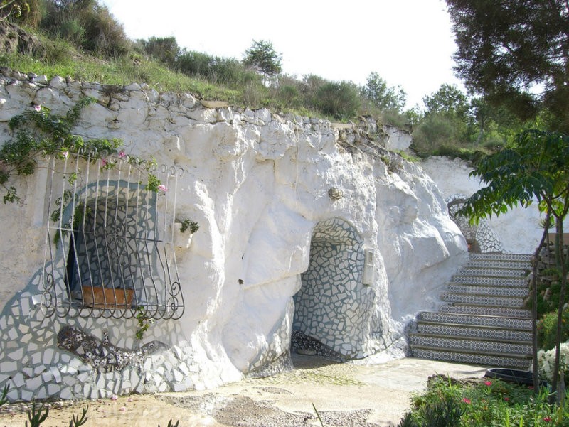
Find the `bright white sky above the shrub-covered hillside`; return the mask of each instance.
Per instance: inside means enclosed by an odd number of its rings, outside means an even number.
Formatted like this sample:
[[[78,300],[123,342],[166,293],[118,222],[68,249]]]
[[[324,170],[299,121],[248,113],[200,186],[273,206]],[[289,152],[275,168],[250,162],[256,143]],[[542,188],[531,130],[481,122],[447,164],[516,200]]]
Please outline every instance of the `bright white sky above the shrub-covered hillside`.
[[[174,36],[181,48],[239,60],[252,40],[270,40],[289,75],[365,85],[378,72],[403,87],[408,107],[443,83],[462,88],[443,0],[100,2],[129,38]]]

